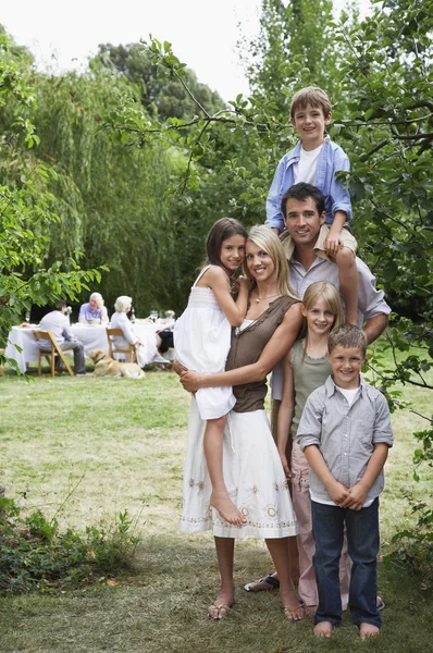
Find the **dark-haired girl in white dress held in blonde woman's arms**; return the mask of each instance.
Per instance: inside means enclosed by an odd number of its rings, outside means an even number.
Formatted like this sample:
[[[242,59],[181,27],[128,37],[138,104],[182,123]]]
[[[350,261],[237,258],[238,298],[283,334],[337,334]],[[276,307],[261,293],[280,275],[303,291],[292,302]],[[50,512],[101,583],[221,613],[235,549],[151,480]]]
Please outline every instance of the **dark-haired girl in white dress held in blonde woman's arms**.
[[[208,234],[206,263],[191,287],[188,306],[174,328],[177,361],[201,373],[222,372],[227,358],[232,325],[239,325],[247,312],[249,282],[234,280],[244,262],[247,232],[236,220],[218,220]],[[237,301],[232,296],[238,289]],[[202,447],[212,493],[210,505],[234,526],[245,517],[228,496],[223,477],[223,433],[226,415],[235,405],[230,386],[207,387],[195,395],[205,436]]]

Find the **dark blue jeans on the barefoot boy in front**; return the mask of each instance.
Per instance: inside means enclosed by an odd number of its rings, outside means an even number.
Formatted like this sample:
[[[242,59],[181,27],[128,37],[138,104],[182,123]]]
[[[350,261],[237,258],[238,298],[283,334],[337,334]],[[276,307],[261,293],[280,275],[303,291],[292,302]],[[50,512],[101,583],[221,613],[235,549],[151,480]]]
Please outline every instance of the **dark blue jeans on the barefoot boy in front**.
[[[314,623],[342,620],[338,565],[344,525],[347,545],[354,563],[350,575],[349,607],[354,623],[382,625],[376,607],[376,556],[379,553],[379,498],[360,510],[311,502],[312,531],[316,540],[314,565],[319,606]]]

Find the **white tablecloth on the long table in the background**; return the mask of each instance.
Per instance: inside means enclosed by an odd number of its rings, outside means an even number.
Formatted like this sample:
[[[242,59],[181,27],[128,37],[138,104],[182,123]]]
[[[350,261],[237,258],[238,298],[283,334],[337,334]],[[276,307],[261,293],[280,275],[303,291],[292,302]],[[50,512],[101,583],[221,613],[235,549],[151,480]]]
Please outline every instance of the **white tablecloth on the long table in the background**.
[[[137,320],[134,324],[134,332],[137,337],[145,341],[148,337],[154,337],[154,334],[160,329],[163,329],[161,321],[157,323],[147,320]],[[38,347],[36,344],[33,331],[37,326],[12,326],[8,335],[8,345],[5,356],[16,360],[21,372],[25,373],[27,362],[38,359]],[[77,340],[84,345],[85,354],[90,349],[102,349],[108,354],[108,340],[106,325],[102,324],[73,324],[72,331]],[[14,345],[18,345],[22,352],[15,349]],[[65,352],[67,354],[67,352]],[[72,352],[71,352],[72,354]]]

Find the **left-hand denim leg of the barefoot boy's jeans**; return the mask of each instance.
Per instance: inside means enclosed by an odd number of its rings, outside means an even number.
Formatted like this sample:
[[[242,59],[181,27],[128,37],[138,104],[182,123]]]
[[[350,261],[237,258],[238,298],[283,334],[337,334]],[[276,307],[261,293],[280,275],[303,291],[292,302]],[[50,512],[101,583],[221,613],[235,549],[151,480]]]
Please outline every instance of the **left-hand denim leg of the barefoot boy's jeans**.
[[[339,593],[339,556],[343,546],[345,510],[311,502],[312,531],[316,553],[312,562],[319,591],[319,605],[314,624],[330,621],[337,626],[342,620]]]

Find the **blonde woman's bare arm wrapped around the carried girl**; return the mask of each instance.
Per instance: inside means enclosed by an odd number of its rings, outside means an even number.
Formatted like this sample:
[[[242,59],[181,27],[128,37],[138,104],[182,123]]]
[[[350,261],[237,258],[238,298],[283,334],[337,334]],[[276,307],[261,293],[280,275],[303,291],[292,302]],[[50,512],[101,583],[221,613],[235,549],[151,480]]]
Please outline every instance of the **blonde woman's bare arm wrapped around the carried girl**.
[[[257,362],[216,374],[184,372],[181,374],[181,382],[185,390],[196,392],[200,387],[242,385],[265,379],[279,360],[287,354],[299,333],[302,324],[301,306],[300,301],[290,306]]]

